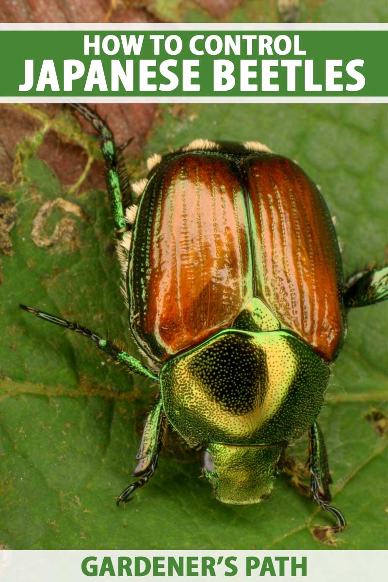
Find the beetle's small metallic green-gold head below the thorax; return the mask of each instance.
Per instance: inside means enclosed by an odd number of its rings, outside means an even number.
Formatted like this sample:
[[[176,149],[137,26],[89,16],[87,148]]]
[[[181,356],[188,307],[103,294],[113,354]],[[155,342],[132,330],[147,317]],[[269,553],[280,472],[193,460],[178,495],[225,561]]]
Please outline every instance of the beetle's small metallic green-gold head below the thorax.
[[[204,452],[204,471],[222,503],[249,505],[268,498],[283,460],[285,443],[234,446],[211,443]]]

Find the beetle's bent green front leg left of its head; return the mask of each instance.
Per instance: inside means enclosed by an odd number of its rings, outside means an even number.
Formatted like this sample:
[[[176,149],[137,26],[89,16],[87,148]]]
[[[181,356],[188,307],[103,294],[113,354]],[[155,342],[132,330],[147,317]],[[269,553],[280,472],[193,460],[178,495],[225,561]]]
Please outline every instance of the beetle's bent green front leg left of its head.
[[[130,495],[140,487],[143,487],[155,472],[158,465],[158,456],[162,448],[163,430],[165,418],[163,414],[163,404],[161,395],[152,407],[145,423],[143,437],[141,438],[140,449],[136,455],[138,463],[132,473],[133,477],[140,477],[137,481],[128,485],[118,496],[117,505],[120,502],[131,501]]]

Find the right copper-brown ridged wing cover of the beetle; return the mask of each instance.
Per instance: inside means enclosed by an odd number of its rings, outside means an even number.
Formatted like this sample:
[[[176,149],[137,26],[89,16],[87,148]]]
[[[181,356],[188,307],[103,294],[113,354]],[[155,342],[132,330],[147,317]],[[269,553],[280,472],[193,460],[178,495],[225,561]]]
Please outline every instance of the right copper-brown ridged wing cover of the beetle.
[[[241,163],[250,193],[255,294],[327,360],[346,332],[343,272],[332,218],[301,168],[277,155]]]

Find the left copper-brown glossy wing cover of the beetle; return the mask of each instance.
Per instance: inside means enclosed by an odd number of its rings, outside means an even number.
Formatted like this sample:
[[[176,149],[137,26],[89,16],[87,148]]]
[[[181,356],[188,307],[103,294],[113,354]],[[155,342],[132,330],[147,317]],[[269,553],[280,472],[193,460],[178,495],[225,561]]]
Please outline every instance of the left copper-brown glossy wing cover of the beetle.
[[[145,351],[163,361],[229,327],[251,296],[247,208],[237,167],[211,154],[161,164],[138,214],[130,324]]]

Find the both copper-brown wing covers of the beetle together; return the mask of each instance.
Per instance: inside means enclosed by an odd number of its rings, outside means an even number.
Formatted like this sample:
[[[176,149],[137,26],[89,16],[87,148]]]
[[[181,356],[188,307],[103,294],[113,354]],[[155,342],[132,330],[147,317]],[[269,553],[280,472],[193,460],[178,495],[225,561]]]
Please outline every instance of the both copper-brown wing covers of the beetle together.
[[[159,165],[141,198],[130,327],[165,361],[230,327],[256,295],[331,360],[344,335],[341,276],[326,204],[296,164],[180,154]]]

